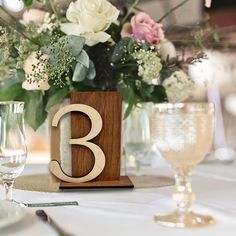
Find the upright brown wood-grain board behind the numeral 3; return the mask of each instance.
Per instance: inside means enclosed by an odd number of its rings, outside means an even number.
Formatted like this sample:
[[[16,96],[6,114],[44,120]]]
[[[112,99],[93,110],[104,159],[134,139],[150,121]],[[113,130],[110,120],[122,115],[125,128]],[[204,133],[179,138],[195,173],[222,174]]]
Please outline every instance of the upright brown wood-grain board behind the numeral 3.
[[[116,181],[120,179],[121,112],[122,96],[119,92],[76,92],[71,94],[71,104],[85,104],[101,115],[103,128],[92,140],[106,157],[103,172],[92,181]],[[91,121],[81,112],[71,113],[71,138],[81,138],[89,133]],[[94,166],[93,153],[84,146],[72,145],[72,176],[88,174]]]

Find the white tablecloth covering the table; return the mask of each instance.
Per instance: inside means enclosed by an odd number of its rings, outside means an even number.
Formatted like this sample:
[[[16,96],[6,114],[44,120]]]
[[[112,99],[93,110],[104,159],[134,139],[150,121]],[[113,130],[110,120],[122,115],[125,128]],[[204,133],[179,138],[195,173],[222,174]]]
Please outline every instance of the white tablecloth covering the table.
[[[202,164],[193,176],[197,200],[195,211],[211,214],[217,224],[201,229],[170,229],[159,226],[153,215],[174,209],[171,199],[173,186],[134,190],[72,191],[39,193],[15,190],[19,202],[75,201],[80,206],[45,208],[45,211],[65,229],[79,236],[234,236],[236,235],[236,163]],[[24,174],[45,173],[46,165],[28,165]],[[166,167],[153,170],[155,174],[172,175]],[[0,188],[2,194],[2,188]],[[41,222],[35,208],[27,208],[28,217],[7,228],[0,235],[53,236],[54,230]]]

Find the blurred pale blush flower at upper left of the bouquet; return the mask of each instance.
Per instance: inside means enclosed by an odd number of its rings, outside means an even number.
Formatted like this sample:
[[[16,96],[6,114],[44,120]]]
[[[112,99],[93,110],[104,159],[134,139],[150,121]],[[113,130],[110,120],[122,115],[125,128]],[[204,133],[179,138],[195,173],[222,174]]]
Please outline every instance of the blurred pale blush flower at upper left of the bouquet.
[[[42,24],[44,22],[46,14],[46,11],[42,11],[39,9],[29,9],[24,12],[21,22],[24,25],[27,25],[32,22],[35,24]]]

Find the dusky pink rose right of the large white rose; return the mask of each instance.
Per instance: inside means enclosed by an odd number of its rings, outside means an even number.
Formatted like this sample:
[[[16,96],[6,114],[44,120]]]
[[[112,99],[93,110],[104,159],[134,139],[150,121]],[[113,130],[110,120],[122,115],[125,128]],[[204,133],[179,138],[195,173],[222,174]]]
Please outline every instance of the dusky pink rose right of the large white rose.
[[[124,24],[121,37],[144,40],[156,47],[165,36],[162,24],[156,23],[149,15],[140,12],[131,18],[130,23]]]

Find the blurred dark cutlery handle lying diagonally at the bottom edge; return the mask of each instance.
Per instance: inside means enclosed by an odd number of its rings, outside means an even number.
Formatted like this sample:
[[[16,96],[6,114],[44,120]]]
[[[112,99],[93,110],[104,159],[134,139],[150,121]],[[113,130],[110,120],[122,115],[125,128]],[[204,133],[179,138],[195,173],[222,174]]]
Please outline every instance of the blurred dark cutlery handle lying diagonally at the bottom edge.
[[[71,233],[66,232],[61,228],[44,210],[37,210],[35,214],[44,222],[48,223],[51,227],[57,231],[59,236],[74,236]]]

